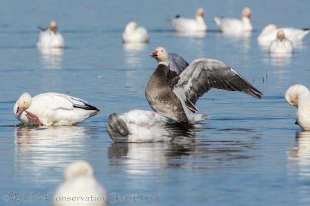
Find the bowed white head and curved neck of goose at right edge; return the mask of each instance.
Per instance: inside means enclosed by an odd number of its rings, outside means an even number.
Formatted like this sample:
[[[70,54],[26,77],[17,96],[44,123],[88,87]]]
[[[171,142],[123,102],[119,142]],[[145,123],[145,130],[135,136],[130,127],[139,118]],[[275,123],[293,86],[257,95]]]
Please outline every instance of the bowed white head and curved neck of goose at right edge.
[[[309,95],[310,91],[307,87],[296,84],[288,88],[285,92],[285,100],[288,104],[298,107],[298,98],[302,95]]]

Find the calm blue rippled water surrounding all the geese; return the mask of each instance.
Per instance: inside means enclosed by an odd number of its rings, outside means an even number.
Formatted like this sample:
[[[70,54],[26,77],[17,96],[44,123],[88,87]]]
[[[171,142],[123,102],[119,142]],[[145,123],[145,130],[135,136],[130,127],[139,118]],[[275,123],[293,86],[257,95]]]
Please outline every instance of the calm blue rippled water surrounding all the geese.
[[[215,32],[214,16],[239,18],[244,6],[253,13],[250,35]],[[2,0],[0,205],[17,205],[9,195],[19,193],[51,200],[63,169],[79,159],[93,165],[111,205],[310,205],[310,133],[294,125],[296,108],[283,97],[292,84],[310,87],[310,36],[286,58],[271,57],[256,43],[269,23],[309,27],[309,6],[302,0]],[[174,33],[167,19],[193,17],[197,7],[205,9],[210,31]],[[37,51],[36,26],[51,20],[58,22],[66,48]],[[150,44],[122,45],[131,20],[149,29]],[[105,128],[110,113],[151,109],[144,89],[156,67],[149,53],[157,46],[188,62],[223,61],[264,97],[211,90],[197,102],[211,119],[197,126],[190,146],[114,143]],[[68,93],[100,113],[74,127],[18,127],[12,109],[25,91]],[[18,204],[50,205],[45,198]]]

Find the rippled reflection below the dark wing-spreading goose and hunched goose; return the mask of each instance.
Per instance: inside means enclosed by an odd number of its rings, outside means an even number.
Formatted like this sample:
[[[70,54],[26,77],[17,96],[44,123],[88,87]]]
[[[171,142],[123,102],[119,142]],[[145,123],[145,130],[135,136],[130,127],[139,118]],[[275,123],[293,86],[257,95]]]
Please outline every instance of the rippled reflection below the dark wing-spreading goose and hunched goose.
[[[128,175],[155,175],[162,168],[212,169],[239,165],[254,158],[256,141],[260,141],[251,130],[214,130],[215,137],[201,136],[194,131],[192,144],[155,143],[113,143],[109,148],[110,168]],[[249,137],[244,138],[246,134]],[[225,135],[228,135],[225,138]],[[251,137],[252,136],[252,137]],[[259,135],[258,135],[259,136]],[[114,166],[114,167],[113,167]]]

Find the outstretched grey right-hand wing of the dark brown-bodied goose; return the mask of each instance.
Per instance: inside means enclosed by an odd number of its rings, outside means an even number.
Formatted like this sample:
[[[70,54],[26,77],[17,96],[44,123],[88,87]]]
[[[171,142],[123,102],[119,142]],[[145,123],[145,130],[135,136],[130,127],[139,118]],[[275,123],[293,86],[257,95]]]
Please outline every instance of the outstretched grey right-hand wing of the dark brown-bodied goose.
[[[258,99],[263,95],[237,72],[215,59],[196,59],[179,77],[174,87],[183,88],[187,101],[194,104],[212,88],[242,91]]]

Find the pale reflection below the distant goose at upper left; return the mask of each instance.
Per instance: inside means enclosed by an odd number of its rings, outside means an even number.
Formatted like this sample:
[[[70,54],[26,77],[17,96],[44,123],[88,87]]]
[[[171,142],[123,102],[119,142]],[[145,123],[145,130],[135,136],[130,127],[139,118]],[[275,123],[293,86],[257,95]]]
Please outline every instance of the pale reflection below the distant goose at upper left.
[[[63,48],[38,48],[45,69],[62,69]]]

